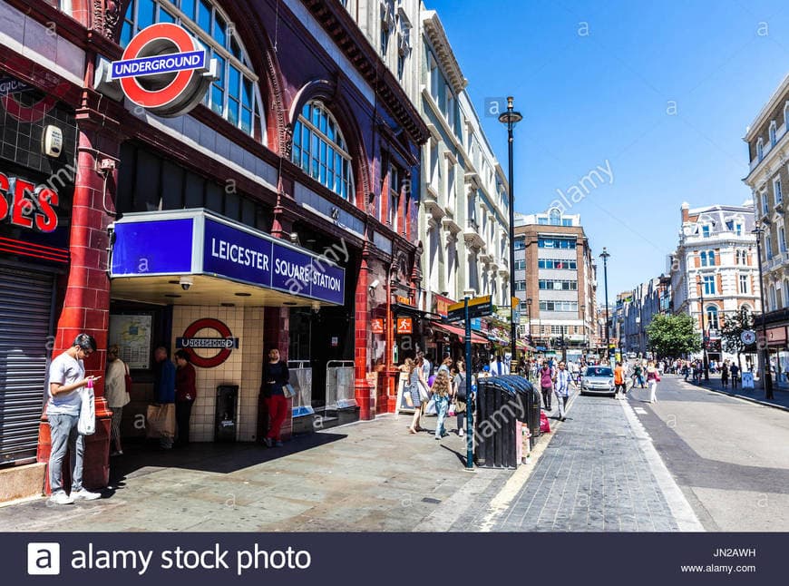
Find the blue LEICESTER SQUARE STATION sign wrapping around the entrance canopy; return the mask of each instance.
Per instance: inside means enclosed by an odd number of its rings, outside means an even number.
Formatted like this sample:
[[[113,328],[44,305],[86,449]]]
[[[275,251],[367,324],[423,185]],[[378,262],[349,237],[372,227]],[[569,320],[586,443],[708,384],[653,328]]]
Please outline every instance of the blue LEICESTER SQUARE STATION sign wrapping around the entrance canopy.
[[[114,230],[112,278],[201,274],[345,302],[345,269],[333,260],[204,210],[127,214]]]

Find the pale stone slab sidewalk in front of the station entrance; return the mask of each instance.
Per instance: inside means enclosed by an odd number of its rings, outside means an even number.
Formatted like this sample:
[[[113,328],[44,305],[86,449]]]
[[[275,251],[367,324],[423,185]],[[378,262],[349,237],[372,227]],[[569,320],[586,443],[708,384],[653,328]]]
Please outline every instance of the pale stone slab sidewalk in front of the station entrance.
[[[510,476],[465,472],[464,437],[409,435],[409,422],[385,415],[278,449],[190,444],[162,452],[129,444],[111,458],[104,498],[5,506],[0,531],[440,531],[447,520],[433,513],[446,510],[442,503],[461,495],[451,507],[461,514],[469,498]],[[435,418],[423,425],[432,428]]]

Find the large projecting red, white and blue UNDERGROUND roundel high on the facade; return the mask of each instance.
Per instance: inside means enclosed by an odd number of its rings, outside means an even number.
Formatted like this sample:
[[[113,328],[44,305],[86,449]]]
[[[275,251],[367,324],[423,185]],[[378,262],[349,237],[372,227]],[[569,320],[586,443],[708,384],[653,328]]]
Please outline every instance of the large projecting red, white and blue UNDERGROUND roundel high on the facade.
[[[217,79],[217,61],[176,24],[151,24],[132,38],[110,77],[133,103],[158,116],[189,112]]]

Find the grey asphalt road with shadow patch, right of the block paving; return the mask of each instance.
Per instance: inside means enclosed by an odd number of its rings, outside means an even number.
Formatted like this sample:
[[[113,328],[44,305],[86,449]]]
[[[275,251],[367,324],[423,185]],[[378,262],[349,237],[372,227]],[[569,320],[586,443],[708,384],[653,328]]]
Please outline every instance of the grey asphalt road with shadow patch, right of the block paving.
[[[707,531],[789,531],[789,413],[671,375],[628,404]]]

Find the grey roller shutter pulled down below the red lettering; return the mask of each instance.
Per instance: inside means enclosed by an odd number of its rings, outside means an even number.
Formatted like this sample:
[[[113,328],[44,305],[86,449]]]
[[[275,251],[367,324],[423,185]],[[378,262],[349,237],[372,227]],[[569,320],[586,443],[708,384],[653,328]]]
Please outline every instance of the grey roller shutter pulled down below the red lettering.
[[[0,265],[0,464],[35,457],[54,276]]]

